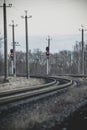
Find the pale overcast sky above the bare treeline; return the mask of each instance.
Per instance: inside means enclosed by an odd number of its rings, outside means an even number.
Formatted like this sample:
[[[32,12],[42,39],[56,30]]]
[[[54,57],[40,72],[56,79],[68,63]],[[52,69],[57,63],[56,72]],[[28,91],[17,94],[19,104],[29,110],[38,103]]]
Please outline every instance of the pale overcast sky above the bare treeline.
[[[13,7],[7,9],[7,24],[11,20],[18,24],[15,28],[15,40],[19,41],[20,49],[25,48],[24,10],[28,10],[28,34],[30,49],[45,50],[46,38],[52,37],[51,50],[71,49],[75,41],[81,40],[78,29],[81,24],[87,28],[87,0],[6,0]],[[3,5],[3,0],[0,0]],[[3,35],[3,9],[0,8],[0,32]],[[8,42],[12,40],[11,27],[8,26]],[[87,41],[87,32],[85,32]],[[17,47],[18,48],[18,47]]]

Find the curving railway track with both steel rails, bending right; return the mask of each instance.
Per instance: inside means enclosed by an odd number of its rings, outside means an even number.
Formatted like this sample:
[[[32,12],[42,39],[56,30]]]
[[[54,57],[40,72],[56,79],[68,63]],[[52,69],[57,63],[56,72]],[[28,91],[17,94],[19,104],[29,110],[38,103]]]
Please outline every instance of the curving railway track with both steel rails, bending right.
[[[39,78],[39,77],[38,77]],[[60,77],[40,77],[49,80],[48,83],[33,86],[25,87],[20,89],[8,90],[0,93],[0,105],[17,102],[27,98],[33,98],[40,95],[50,94],[55,91],[60,91],[66,89],[67,87],[73,84],[73,81],[70,79],[60,78]]]

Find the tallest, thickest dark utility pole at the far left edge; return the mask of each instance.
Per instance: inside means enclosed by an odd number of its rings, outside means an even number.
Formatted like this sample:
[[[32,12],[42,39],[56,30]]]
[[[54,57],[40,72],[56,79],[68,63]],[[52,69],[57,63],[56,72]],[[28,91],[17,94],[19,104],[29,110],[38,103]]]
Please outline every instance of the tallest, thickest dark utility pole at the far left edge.
[[[6,81],[8,78],[8,52],[7,52],[7,14],[6,7],[11,7],[12,4],[6,6],[6,2],[4,0],[3,6],[3,19],[4,19],[4,80]]]

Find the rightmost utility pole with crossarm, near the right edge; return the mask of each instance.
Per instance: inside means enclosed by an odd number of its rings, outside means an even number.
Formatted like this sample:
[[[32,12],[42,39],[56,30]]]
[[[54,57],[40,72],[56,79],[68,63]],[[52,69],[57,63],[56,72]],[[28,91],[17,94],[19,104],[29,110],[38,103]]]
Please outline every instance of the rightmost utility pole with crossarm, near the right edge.
[[[84,75],[85,71],[84,71],[84,31],[86,31],[86,29],[84,29],[84,26],[81,25],[81,29],[79,29],[79,31],[81,31],[81,37],[82,37],[82,74]]]

